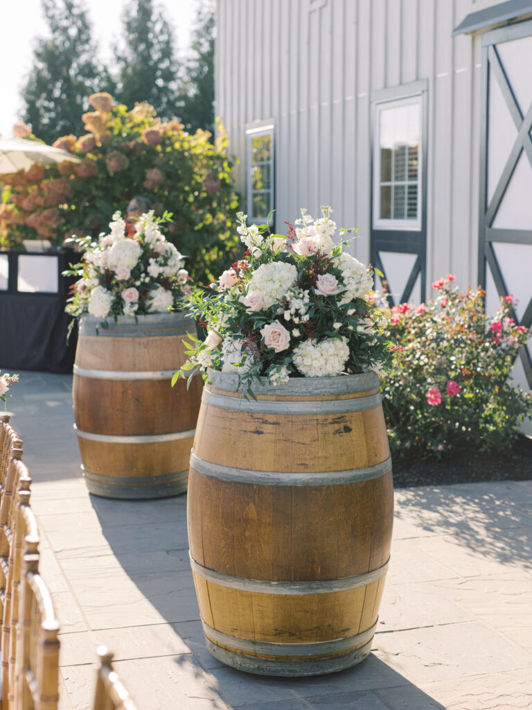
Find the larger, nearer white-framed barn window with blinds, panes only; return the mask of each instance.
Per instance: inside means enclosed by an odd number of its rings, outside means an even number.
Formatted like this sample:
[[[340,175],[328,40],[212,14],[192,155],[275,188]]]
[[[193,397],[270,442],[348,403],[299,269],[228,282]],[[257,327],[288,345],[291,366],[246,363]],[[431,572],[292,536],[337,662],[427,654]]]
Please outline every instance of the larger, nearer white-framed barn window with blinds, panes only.
[[[421,94],[377,104],[373,226],[421,229]]]

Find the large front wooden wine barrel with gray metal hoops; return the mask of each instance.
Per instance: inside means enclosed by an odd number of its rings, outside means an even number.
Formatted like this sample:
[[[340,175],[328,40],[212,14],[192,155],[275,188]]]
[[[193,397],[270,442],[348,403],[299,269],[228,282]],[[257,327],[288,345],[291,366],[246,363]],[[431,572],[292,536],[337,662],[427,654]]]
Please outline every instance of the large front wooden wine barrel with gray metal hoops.
[[[206,645],[248,672],[362,661],[377,624],[393,483],[375,373],[253,386],[211,373],[190,462],[189,544]]]

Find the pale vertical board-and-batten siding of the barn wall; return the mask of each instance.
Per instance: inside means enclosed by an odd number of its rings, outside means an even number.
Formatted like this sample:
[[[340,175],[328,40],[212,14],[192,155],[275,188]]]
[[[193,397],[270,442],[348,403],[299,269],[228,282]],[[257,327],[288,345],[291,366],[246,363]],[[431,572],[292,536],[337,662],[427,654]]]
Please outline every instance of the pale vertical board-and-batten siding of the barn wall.
[[[370,252],[371,94],[428,80],[427,283],[477,282],[480,35],[472,0],[218,0],[216,115],[245,192],[245,128],[275,121],[276,226],[331,204]]]

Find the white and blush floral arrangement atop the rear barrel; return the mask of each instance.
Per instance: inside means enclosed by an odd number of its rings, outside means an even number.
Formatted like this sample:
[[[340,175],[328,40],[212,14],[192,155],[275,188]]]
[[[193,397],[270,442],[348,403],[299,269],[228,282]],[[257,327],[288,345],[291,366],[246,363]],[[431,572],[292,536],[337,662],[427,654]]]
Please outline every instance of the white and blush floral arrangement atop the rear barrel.
[[[76,239],[85,251],[82,261],[64,272],[79,277],[67,313],[102,319],[147,315],[166,312],[189,295],[192,287],[183,257],[165,239],[160,222],[148,212],[131,228],[116,212],[109,234],[94,242],[90,237]]]

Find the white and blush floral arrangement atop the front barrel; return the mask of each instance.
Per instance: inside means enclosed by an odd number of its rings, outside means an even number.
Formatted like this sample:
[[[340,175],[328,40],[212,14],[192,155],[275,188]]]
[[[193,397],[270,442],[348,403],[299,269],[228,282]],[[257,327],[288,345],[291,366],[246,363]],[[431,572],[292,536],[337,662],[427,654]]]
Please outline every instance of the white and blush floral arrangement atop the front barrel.
[[[335,244],[331,208],[314,220],[305,210],[288,236],[267,225],[237,231],[245,258],[224,271],[218,283],[196,292],[189,314],[208,329],[204,342],[189,344],[189,360],[176,373],[199,367],[237,372],[285,383],[290,377],[330,377],[374,370],[384,373],[393,354],[387,319],[372,299],[373,270]],[[354,230],[340,230],[340,235]]]

